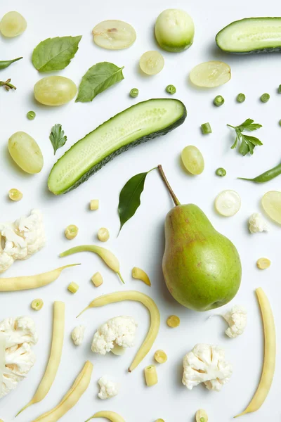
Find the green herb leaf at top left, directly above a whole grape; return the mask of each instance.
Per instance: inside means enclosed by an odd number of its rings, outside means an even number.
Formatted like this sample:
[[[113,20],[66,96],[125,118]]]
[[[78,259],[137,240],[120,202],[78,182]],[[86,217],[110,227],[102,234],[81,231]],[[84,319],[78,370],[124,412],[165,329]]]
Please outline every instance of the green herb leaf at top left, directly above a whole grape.
[[[34,68],[39,72],[66,68],[78,50],[81,37],[55,37],[41,41],[32,53]]]

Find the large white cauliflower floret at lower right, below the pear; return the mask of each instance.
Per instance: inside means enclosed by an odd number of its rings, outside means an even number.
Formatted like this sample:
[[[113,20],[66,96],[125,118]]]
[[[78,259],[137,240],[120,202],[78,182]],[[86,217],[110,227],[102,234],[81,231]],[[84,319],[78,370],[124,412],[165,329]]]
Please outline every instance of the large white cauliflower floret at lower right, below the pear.
[[[183,358],[183,384],[192,390],[204,383],[208,390],[221,391],[233,373],[233,367],[225,360],[221,347],[197,344]]]

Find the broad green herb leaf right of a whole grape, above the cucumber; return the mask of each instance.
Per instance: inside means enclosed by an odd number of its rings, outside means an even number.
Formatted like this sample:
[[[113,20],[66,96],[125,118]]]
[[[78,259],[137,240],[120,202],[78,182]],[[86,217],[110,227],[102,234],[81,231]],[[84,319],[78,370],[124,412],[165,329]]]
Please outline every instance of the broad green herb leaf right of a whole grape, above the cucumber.
[[[113,63],[97,63],[82,77],[76,103],[93,101],[98,94],[124,79],[122,70]]]

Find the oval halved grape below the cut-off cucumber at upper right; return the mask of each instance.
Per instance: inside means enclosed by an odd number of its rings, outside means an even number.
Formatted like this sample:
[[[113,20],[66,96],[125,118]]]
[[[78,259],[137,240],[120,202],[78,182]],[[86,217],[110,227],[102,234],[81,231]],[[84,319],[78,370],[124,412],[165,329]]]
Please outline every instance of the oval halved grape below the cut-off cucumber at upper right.
[[[189,77],[192,84],[197,87],[214,88],[220,87],[230,80],[231,70],[226,63],[209,61],[195,66]]]

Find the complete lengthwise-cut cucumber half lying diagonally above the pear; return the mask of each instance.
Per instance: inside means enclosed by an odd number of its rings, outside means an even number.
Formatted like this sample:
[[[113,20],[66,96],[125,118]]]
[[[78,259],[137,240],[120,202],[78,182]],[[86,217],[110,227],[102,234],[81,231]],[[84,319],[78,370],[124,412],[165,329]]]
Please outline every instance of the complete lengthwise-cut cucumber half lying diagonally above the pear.
[[[127,108],[74,143],[53,166],[49,190],[55,195],[72,191],[123,151],[167,134],[185,117],[184,104],[174,98],[155,98]]]

